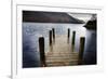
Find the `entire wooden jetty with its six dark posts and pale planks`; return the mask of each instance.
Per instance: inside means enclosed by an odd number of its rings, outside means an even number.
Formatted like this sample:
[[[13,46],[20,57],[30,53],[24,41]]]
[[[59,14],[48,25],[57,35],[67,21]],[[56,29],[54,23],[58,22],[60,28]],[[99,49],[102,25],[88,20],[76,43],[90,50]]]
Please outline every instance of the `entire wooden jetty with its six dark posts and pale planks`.
[[[76,31],[70,38],[70,29],[68,35],[55,35],[53,28],[49,31],[48,51],[44,51],[44,39],[41,37],[39,40],[41,67],[82,65],[85,38],[80,38],[79,52],[75,51],[75,38]]]

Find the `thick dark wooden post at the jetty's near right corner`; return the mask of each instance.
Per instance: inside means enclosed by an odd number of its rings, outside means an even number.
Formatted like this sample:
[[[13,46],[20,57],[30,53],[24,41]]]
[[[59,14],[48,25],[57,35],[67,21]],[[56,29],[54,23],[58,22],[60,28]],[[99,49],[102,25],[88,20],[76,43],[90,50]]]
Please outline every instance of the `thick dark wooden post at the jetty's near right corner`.
[[[79,48],[79,61],[78,61],[79,65],[83,64],[84,42],[85,42],[85,38],[81,37],[80,38],[80,48]]]

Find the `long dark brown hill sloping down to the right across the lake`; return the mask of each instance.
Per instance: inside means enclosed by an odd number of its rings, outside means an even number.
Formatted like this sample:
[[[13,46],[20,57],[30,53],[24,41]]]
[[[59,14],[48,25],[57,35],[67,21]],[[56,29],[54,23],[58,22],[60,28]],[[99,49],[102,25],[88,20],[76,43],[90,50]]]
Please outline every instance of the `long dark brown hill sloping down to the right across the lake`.
[[[23,11],[23,22],[33,23],[72,23],[83,24],[84,22],[70,16],[68,13],[62,12],[37,12],[37,11]]]

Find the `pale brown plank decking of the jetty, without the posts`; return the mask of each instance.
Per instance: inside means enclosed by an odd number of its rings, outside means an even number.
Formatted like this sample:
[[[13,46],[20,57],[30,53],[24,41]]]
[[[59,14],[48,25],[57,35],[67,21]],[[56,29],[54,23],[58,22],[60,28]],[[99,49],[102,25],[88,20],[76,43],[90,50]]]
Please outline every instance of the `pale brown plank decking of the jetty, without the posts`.
[[[55,41],[45,54],[46,66],[71,66],[78,64],[78,52],[72,52],[71,41],[67,35],[56,35]]]

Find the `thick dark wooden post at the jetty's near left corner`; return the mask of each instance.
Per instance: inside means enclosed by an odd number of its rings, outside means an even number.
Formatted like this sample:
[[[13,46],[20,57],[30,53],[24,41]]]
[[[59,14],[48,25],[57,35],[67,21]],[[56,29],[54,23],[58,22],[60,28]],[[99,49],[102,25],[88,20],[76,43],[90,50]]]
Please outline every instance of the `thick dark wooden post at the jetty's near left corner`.
[[[45,54],[44,54],[44,38],[40,37],[39,38],[39,51],[40,51],[40,62],[41,62],[41,67],[45,67]]]

